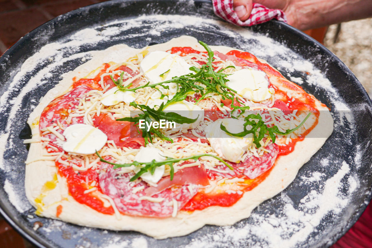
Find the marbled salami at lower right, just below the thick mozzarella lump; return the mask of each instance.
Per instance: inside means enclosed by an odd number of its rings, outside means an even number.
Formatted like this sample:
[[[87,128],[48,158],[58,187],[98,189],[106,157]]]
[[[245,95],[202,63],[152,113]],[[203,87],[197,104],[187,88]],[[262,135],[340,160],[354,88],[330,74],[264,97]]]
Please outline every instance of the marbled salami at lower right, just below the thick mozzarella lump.
[[[225,165],[217,166],[216,169],[219,171],[212,171],[206,168],[208,177],[215,179],[218,176],[226,178],[246,176],[249,179],[254,179],[270,169],[274,165],[276,156],[278,155],[279,149],[277,144],[270,144],[265,147],[265,149],[269,150],[269,152],[264,153],[264,155],[258,158],[255,156],[250,156],[240,163],[230,162],[230,165],[232,168],[234,168],[234,170],[227,168]]]

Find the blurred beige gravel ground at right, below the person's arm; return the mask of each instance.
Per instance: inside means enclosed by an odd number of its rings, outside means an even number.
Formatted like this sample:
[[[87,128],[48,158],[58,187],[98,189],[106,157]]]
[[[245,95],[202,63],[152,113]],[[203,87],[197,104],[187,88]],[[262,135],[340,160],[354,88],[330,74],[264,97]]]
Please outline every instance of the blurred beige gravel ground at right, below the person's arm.
[[[372,18],[343,22],[336,43],[337,25],[331,25],[324,39],[325,46],[339,57],[372,97]]]

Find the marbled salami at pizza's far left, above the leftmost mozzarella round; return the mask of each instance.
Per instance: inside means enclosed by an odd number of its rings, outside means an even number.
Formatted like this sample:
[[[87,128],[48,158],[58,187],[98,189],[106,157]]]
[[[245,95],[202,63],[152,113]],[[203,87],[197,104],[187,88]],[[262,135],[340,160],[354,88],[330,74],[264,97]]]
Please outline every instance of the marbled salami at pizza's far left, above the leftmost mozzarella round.
[[[76,105],[79,103],[78,98],[83,98],[83,96],[90,90],[92,90],[92,88],[89,86],[79,85],[73,90],[65,93],[63,96],[51,101],[41,113],[39,122],[40,130],[50,127],[53,124],[57,124],[58,122],[63,129],[69,125],[83,123],[83,117],[72,117],[69,123],[67,123],[67,118],[71,112],[77,109]],[[63,130],[60,128],[57,130],[57,132],[62,134]],[[51,140],[50,143],[62,151],[60,144],[55,142],[57,140],[57,136],[55,136],[55,134],[48,133],[44,134],[43,136],[49,138]]]

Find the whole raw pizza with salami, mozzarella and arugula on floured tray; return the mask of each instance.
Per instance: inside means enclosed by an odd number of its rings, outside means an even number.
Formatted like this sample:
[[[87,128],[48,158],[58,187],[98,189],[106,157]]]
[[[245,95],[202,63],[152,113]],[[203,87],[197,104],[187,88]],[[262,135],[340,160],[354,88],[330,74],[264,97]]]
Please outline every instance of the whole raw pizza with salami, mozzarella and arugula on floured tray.
[[[28,120],[39,216],[155,238],[232,225],[333,130],[324,104],[248,52],[181,36],[92,55]]]

